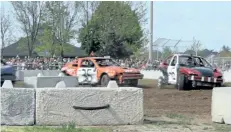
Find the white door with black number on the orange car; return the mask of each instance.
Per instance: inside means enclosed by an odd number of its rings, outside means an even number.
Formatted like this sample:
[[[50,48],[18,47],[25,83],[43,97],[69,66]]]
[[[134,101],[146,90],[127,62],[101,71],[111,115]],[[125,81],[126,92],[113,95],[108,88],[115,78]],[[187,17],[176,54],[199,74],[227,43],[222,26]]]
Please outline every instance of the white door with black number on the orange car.
[[[97,80],[97,69],[91,60],[83,59],[77,72],[80,84],[95,84]]]

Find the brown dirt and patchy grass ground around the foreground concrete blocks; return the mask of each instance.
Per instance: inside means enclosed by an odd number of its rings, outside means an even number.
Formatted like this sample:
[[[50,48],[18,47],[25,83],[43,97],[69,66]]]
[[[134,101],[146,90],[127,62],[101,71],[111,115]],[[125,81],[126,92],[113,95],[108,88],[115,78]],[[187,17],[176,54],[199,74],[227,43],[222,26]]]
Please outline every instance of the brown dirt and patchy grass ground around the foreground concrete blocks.
[[[231,132],[231,125],[211,121],[211,89],[178,91],[173,86],[156,87],[144,79],[144,124],[126,126],[2,127],[2,132]],[[18,85],[23,85],[19,83]],[[225,84],[231,86],[231,83]]]

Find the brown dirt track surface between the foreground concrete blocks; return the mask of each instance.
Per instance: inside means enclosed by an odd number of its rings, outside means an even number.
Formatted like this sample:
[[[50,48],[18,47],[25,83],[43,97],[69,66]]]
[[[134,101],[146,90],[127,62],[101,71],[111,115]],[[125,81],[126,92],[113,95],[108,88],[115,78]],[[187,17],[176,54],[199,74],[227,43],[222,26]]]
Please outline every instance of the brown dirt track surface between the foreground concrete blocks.
[[[156,83],[155,80],[142,80],[139,83],[144,90],[146,117],[183,114],[210,122],[212,90],[158,89]]]

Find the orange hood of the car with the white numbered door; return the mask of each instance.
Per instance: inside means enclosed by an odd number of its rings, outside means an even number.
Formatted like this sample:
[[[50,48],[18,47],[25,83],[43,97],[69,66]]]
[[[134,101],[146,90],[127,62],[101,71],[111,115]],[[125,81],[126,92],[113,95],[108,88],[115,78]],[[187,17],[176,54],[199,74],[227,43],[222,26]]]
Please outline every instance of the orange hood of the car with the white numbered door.
[[[138,69],[135,68],[126,68],[126,67],[119,67],[119,66],[107,66],[104,67],[106,71],[115,71],[117,73],[140,73]]]

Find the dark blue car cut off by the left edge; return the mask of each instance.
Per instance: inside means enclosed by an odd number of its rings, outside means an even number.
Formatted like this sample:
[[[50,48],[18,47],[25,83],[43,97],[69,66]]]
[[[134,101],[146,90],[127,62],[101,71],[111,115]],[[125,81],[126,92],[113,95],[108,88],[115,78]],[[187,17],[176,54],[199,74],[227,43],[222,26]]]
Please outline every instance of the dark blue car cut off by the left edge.
[[[11,80],[14,84],[16,81],[16,69],[14,66],[1,60],[1,86],[5,80]]]

